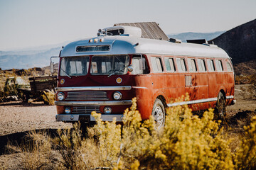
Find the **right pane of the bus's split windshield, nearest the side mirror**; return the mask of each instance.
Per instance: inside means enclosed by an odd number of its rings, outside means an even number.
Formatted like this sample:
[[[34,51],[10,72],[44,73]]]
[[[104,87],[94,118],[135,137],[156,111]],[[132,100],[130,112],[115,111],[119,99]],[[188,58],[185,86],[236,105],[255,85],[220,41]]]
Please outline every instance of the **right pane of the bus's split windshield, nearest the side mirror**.
[[[105,55],[92,57],[92,75],[127,74],[129,55]]]

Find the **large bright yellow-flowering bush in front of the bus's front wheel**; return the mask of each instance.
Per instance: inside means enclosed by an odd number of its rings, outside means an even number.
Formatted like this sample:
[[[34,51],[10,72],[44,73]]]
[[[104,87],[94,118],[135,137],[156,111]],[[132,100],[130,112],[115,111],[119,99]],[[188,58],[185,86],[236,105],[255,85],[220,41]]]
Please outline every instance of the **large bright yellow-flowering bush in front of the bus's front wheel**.
[[[119,126],[102,123],[100,115],[94,115],[97,125],[93,129],[99,138],[100,152],[111,162],[105,166],[115,169],[233,169],[229,142],[223,139],[219,124],[213,121],[213,109],[198,118],[188,106],[169,108],[164,129],[156,131],[153,118],[142,123],[134,98],[131,110],[124,111],[122,137],[114,137],[119,134]],[[108,137],[107,142],[105,137]]]

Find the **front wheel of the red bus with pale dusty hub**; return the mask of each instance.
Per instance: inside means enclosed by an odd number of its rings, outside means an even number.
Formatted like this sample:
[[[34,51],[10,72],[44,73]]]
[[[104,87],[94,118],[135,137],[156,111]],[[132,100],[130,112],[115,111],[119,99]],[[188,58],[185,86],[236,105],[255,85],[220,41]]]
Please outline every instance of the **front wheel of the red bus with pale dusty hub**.
[[[156,130],[164,128],[166,113],[164,104],[161,102],[159,98],[156,98],[156,101],[154,102],[152,115],[154,117],[154,120],[156,121]]]

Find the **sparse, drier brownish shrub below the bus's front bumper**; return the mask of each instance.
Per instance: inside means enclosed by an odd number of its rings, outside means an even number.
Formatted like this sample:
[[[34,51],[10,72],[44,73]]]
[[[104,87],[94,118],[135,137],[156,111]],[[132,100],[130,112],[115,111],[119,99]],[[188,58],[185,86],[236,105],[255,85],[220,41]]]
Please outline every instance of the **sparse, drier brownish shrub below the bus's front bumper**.
[[[49,159],[58,169],[94,169],[103,164],[97,142],[92,137],[82,140],[78,123],[73,125],[73,129],[58,130],[51,147],[58,157]]]

